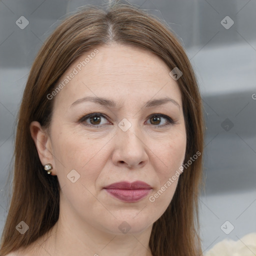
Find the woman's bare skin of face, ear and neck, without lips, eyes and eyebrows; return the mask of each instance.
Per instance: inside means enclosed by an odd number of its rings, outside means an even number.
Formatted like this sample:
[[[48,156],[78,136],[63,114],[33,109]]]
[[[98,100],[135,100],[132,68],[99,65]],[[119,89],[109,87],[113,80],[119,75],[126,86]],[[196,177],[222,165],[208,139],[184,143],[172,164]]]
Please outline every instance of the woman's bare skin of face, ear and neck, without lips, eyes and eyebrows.
[[[169,75],[169,68],[156,55],[133,46],[111,44],[97,48],[90,59],[61,91],[53,97],[53,118],[48,130],[36,121],[30,131],[42,165],[51,163],[51,175],[60,183],[60,213],[50,232],[28,246],[24,255],[152,255],[149,237],[152,224],[165,211],[178,178],[155,201],[154,195],[182,164],[186,134],[181,92]],[[61,82],[80,56],[60,77]],[[115,107],[84,101],[85,96],[105,97]],[[174,99],[143,108],[146,101],[163,97]],[[97,122],[81,116],[100,112]],[[171,117],[155,120],[152,114]],[[131,126],[123,131],[118,123],[126,118]],[[99,124],[98,124],[99,123]],[[90,124],[91,126],[86,126]],[[93,127],[100,125],[99,128]],[[67,178],[75,169],[80,177]],[[75,174],[77,176],[77,174]],[[141,180],[150,193],[137,202],[121,201],[103,189],[118,181]],[[126,221],[130,229],[118,226]]]

